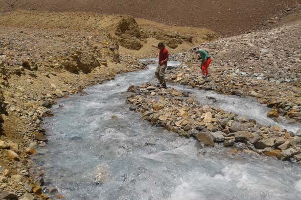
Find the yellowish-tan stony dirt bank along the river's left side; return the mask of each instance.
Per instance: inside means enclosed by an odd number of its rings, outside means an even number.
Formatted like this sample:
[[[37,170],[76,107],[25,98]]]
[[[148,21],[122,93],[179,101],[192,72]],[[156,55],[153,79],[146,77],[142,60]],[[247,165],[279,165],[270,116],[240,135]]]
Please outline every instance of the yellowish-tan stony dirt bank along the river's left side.
[[[151,30],[154,26],[157,31]],[[41,123],[52,114],[49,108],[57,97],[144,68],[134,56],[157,55],[148,47],[158,41],[177,45],[170,48],[173,53],[217,38],[205,29],[190,35],[181,27],[173,27],[172,34],[164,28],[130,16],[92,13],[17,11],[0,16],[0,198],[47,199],[42,173],[29,172],[29,158],[37,146],[47,145]]]

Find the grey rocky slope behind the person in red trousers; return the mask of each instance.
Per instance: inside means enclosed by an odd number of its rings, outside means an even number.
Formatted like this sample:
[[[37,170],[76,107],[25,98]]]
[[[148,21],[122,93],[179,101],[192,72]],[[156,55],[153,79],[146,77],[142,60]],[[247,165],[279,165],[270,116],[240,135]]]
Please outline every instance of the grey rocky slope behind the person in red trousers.
[[[300,121],[300,33],[300,23],[293,23],[202,44],[198,47],[209,51],[213,59],[209,79],[201,77],[200,62],[187,51],[174,57],[184,64],[171,70],[168,80],[223,94],[254,96],[272,108],[269,117]]]

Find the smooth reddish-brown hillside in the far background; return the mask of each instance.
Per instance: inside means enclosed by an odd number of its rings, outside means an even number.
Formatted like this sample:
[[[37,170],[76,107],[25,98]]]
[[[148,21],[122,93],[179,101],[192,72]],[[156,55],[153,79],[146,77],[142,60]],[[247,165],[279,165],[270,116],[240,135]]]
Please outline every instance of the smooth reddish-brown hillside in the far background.
[[[238,35],[273,26],[294,16],[300,0],[167,0],[167,1],[68,1],[0,0],[2,11],[82,11],[101,14],[127,14],[168,25],[204,27],[222,36]]]

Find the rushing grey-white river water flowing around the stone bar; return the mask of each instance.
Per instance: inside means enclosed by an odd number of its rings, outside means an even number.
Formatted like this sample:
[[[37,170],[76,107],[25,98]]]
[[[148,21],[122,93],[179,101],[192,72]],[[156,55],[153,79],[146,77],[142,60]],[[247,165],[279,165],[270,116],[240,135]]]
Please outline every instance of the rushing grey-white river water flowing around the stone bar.
[[[200,149],[194,139],[151,127],[140,114],[129,111],[123,92],[130,85],[154,81],[154,67],[122,74],[86,89],[84,95],[59,99],[55,115],[45,119],[48,146],[39,148],[35,157],[47,186],[57,187],[66,199],[299,198],[299,166],[267,157],[233,156],[222,147]],[[198,96],[198,91],[191,92]],[[248,106],[243,115],[258,115],[252,105],[266,112],[247,99],[236,104]],[[265,116],[258,120],[270,122]]]

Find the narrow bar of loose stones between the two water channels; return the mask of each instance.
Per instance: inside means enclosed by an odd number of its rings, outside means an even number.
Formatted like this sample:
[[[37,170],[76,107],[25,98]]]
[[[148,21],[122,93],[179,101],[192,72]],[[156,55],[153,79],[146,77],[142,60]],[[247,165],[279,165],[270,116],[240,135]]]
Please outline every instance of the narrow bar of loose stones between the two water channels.
[[[238,117],[224,110],[202,105],[188,92],[160,88],[152,83],[131,86],[127,102],[130,110],[155,126],[184,137],[194,137],[204,146],[222,143],[250,154],[261,154],[281,160],[301,160],[300,131],[296,135],[278,126],[260,124],[252,118]],[[300,162],[301,164],[301,162]]]

